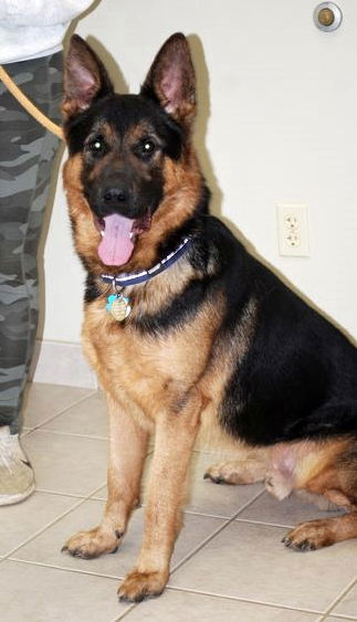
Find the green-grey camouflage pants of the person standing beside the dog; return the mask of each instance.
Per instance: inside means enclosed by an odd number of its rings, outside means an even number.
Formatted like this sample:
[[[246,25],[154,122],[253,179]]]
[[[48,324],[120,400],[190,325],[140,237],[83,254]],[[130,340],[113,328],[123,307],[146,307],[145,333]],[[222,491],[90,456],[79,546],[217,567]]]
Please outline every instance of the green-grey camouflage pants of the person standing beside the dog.
[[[62,53],[4,66],[60,122]],[[38,327],[38,245],[59,139],[0,82],[0,425],[20,428]]]

